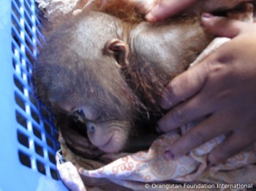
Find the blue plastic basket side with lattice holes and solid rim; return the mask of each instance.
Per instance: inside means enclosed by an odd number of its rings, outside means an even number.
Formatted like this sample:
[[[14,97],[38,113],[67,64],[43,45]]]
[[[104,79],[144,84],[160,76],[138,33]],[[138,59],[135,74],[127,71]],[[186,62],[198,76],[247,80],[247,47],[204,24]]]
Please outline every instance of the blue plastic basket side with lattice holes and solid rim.
[[[34,0],[0,0],[0,191],[67,190],[56,170],[58,131],[31,84],[40,27]]]

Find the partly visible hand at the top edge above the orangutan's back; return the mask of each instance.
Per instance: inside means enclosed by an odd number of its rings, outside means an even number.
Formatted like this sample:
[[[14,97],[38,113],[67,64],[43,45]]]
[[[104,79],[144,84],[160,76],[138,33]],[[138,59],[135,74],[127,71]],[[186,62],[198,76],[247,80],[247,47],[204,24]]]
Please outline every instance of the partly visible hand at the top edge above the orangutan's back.
[[[131,0],[138,1],[138,0]],[[146,20],[149,22],[156,22],[158,20],[163,20],[167,17],[175,15],[178,12],[183,10],[194,11],[194,12],[214,12],[220,10],[227,10],[236,7],[241,2],[249,2],[252,0],[231,0],[231,1],[223,1],[223,0],[158,0],[158,1],[141,1],[140,7],[147,10]]]

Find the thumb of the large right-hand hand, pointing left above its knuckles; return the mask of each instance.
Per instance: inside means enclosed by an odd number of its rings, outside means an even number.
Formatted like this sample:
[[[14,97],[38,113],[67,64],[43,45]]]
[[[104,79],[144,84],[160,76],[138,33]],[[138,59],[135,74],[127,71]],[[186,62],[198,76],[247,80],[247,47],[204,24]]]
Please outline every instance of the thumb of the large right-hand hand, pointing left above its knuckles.
[[[201,16],[202,25],[212,34],[217,36],[233,38],[241,34],[247,23],[232,20],[227,17],[217,17],[210,13],[203,13]]]

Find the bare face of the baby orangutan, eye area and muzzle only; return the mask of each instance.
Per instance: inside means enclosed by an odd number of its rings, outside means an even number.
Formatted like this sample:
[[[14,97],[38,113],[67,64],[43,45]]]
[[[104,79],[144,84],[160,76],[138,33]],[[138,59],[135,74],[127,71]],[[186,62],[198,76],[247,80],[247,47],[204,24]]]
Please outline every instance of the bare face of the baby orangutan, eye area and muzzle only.
[[[97,111],[94,107],[63,106],[63,110],[71,114],[75,120],[86,124],[83,129],[91,144],[101,149],[103,152],[113,153],[120,152],[127,143],[130,123],[127,120],[104,119],[102,112]]]

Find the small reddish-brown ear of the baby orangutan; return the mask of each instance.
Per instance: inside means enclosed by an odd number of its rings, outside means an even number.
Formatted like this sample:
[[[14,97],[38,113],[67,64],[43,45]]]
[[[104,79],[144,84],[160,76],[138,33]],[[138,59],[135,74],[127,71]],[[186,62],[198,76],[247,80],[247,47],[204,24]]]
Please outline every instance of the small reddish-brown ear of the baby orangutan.
[[[116,58],[118,68],[124,69],[128,65],[129,46],[120,39],[110,39],[106,42],[104,52]]]

